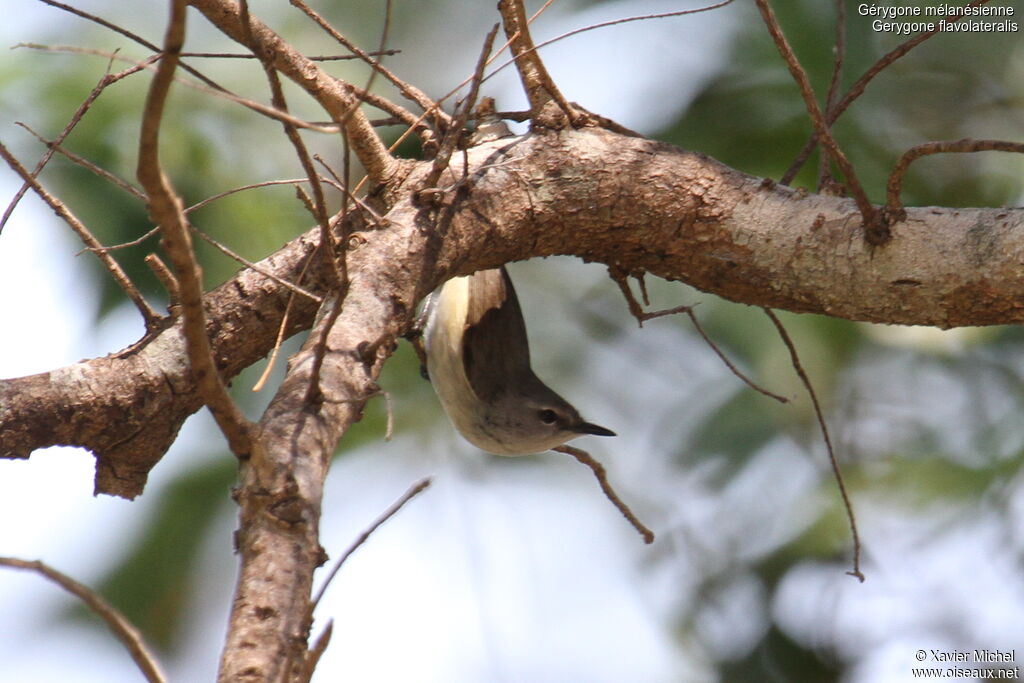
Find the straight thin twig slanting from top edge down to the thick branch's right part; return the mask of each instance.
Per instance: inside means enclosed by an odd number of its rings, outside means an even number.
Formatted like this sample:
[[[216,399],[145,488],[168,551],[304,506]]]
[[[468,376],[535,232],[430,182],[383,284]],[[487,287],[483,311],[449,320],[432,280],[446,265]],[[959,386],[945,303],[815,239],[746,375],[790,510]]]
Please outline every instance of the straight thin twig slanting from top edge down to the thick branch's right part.
[[[771,34],[772,40],[775,41],[775,47],[778,48],[779,54],[782,55],[782,59],[790,68],[790,73],[800,87],[800,93],[804,97],[804,106],[811,118],[811,124],[818,134],[818,139],[821,140],[821,143],[828,152],[828,156],[831,157],[831,160],[843,172],[847,187],[857,203],[857,209],[860,211],[860,215],[864,221],[864,238],[871,245],[885,244],[892,238],[889,226],[883,219],[882,213],[867,199],[867,194],[861,186],[853,165],[846,158],[846,155],[843,154],[839,143],[836,142],[836,138],[833,137],[824,115],[821,114],[821,109],[818,106],[817,99],[814,96],[814,88],[807,77],[807,72],[804,71],[793,48],[790,47],[790,43],[782,33],[782,28],[775,17],[775,12],[769,6],[768,0],[755,0],[755,2],[758,5],[758,10],[761,12],[761,17],[764,19],[765,26],[768,27],[768,33]]]

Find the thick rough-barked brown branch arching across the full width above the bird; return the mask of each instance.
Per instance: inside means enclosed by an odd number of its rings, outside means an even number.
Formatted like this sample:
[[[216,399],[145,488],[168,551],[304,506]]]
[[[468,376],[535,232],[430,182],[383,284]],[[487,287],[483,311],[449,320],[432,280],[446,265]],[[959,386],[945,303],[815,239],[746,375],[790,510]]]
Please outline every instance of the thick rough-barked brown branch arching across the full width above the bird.
[[[772,186],[707,157],[605,130],[498,140],[471,148],[468,163],[470,181],[439,218],[409,203],[425,162],[389,186],[387,228],[347,227],[359,244],[348,254],[352,267],[378,271],[382,311],[411,315],[451,275],[574,254],[799,312],[940,328],[1024,322],[1019,209],[909,208],[893,240],[871,249],[850,200]],[[260,266],[298,280],[315,239],[312,231]],[[303,286],[326,294],[319,268],[310,271]],[[206,295],[223,377],[272,348],[288,296],[250,270]],[[289,334],[312,319],[304,297],[296,307]],[[393,329],[378,321],[358,341],[375,343]],[[200,408],[184,357],[174,325],[108,357],[0,382],[0,455],[84,445],[98,458],[98,492],[137,495]]]

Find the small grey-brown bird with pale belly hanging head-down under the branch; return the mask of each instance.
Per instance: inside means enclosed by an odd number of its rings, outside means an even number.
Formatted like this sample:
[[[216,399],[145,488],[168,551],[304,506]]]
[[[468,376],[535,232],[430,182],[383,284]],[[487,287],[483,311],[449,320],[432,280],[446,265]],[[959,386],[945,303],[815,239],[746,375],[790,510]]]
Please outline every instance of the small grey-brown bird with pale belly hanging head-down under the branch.
[[[427,305],[430,382],[470,443],[525,456],[583,434],[615,435],[586,422],[534,374],[526,325],[504,266],[450,280]]]

